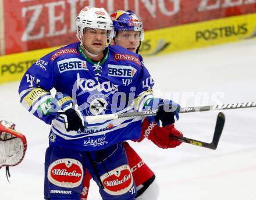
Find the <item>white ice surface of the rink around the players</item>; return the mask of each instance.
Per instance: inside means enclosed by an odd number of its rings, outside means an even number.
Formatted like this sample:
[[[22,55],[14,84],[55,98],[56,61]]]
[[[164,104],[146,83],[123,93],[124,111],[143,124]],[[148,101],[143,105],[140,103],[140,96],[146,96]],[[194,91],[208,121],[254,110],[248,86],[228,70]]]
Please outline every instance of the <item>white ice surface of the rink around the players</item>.
[[[155,94],[185,106],[256,101],[256,40],[145,58]],[[27,137],[23,162],[0,170],[0,199],[43,199],[44,153],[49,126],[19,103],[19,82],[0,85],[0,119],[16,123]],[[184,136],[211,141],[218,112],[181,114]],[[161,200],[255,199],[256,108],[223,111],[226,123],[218,148],[182,144],[159,149],[150,141],[130,142],[155,172]],[[89,200],[101,199],[91,181]]]

